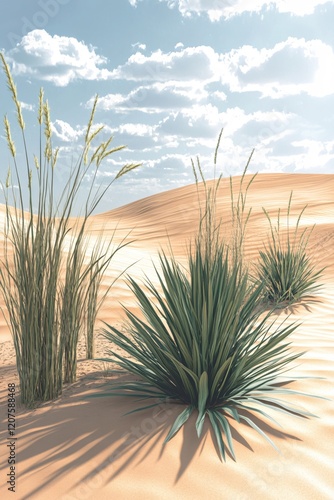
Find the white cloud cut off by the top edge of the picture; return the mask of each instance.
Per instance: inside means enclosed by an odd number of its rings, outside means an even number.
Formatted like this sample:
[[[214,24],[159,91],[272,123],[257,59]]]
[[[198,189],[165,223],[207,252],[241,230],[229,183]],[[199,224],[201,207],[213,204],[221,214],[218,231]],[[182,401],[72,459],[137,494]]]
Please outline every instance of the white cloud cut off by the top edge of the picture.
[[[129,0],[136,6],[139,0]],[[321,5],[333,4],[334,0],[159,0],[166,2],[170,8],[178,8],[182,16],[206,14],[210,21],[243,14],[244,12],[261,12],[262,9],[275,8],[280,13],[295,16],[312,14]]]

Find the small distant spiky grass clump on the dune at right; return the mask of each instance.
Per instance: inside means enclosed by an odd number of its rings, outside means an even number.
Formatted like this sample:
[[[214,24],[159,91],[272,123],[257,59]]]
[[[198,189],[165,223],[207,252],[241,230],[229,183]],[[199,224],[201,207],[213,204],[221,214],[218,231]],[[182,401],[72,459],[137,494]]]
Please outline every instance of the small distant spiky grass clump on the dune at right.
[[[311,257],[307,254],[307,246],[314,228],[300,230],[301,217],[306,206],[300,212],[294,231],[290,231],[290,211],[292,193],[290,194],[286,214],[286,232],[281,227],[281,212],[278,211],[277,225],[274,226],[269,213],[263,209],[269,224],[270,238],[260,259],[256,264],[255,281],[263,287],[264,301],[274,307],[294,304],[303,297],[320,288],[318,280],[324,269],[316,270]]]

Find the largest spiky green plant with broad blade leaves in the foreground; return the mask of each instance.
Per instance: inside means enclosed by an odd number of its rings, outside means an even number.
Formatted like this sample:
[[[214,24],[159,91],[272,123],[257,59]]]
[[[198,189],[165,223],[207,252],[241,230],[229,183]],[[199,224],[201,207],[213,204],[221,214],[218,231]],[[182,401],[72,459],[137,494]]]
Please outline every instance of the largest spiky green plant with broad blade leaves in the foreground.
[[[205,190],[205,210],[187,266],[161,251],[156,284],[129,278],[144,319],[125,309],[126,333],[106,325],[104,336],[111,347],[105,361],[135,376],[109,389],[110,395],[147,402],[134,411],[164,399],[184,406],[166,442],[195,414],[198,436],[208,418],[225,459],[227,450],[235,457],[231,419],[246,422],[275,446],[257,425],[256,415],[273,420],[268,410],[309,414],[277,398],[294,394],[281,377],[300,356],[289,351],[288,341],[297,325],[275,325],[272,311],[261,315],[262,290],[250,286],[247,268],[234,257],[221,223],[215,222],[214,189]],[[238,199],[239,220],[245,221],[244,198]]]

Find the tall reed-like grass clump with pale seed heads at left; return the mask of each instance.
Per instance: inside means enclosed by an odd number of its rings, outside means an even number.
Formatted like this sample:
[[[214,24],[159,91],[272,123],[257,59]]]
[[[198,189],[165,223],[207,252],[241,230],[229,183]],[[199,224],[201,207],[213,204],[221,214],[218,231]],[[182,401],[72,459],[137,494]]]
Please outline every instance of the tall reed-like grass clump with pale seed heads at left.
[[[37,155],[32,157],[16,86],[2,54],[1,60],[16,109],[25,173],[20,169],[10,122],[5,116],[11,165],[6,184],[2,185],[5,227],[0,289],[14,340],[21,401],[26,406],[33,406],[37,401],[57,397],[64,380],[75,379],[76,345],[83,308],[87,304],[86,277],[91,268],[105,269],[113,255],[96,253],[95,260],[87,266],[84,262],[85,228],[111,184],[138,165],[125,165],[107,186],[96,187],[102,161],[124,148],[111,147],[112,137],[93,145],[103,130],[102,126],[96,128],[93,124],[96,98],[82,154],[62,186],[62,194],[57,197],[58,149],[52,145],[48,102],[41,89],[37,116],[39,148]],[[92,183],[82,204],[82,216],[73,218],[73,209],[87,174],[92,176]],[[72,242],[66,251],[69,239]],[[99,267],[101,258],[104,264]],[[93,282],[95,276],[96,273],[91,276]]]

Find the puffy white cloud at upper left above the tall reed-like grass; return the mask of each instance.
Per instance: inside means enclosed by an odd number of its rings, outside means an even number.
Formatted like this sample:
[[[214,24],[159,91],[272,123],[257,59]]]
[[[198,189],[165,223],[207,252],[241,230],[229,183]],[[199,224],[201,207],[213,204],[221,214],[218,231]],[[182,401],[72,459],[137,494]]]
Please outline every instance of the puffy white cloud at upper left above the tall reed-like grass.
[[[100,69],[107,59],[94,47],[73,37],[34,30],[5,54],[14,75],[25,75],[65,87],[74,80],[106,80],[110,71]]]

